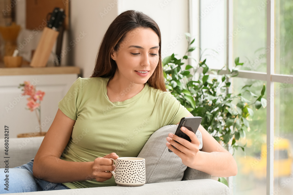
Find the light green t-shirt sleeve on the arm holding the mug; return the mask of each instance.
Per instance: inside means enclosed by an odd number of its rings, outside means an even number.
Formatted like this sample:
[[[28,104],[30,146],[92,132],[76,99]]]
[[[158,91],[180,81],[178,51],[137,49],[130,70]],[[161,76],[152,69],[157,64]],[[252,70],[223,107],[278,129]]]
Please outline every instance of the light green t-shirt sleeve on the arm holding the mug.
[[[81,77],[79,77],[70,87],[67,94],[58,102],[58,108],[72,120],[77,119],[77,110],[81,94]]]

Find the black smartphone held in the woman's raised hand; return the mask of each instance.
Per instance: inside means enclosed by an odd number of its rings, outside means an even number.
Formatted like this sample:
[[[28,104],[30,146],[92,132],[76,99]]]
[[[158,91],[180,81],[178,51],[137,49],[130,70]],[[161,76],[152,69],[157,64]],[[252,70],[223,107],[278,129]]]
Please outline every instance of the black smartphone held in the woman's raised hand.
[[[202,118],[200,116],[183,117],[183,118],[181,118],[179,125],[177,127],[177,130],[174,134],[177,135],[178,137],[186,139],[187,141],[191,141],[191,139],[188,137],[188,135],[183,133],[180,128],[185,127],[186,129],[194,132],[194,134],[195,134],[198,127],[200,126],[201,121],[202,121]],[[170,149],[168,149],[168,151],[172,152]]]

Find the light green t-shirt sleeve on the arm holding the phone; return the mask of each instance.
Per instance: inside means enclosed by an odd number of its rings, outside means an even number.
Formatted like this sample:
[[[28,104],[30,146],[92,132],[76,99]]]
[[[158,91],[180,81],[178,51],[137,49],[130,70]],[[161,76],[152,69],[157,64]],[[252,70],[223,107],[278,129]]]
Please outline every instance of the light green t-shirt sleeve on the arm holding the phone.
[[[170,93],[166,92],[162,99],[162,126],[176,125],[189,111]]]

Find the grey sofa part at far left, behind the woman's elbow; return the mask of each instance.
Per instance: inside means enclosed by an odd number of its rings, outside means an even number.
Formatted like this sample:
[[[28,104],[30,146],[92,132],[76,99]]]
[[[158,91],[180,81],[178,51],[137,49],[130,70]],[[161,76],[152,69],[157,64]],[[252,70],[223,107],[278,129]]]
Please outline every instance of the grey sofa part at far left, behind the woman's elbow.
[[[0,139],[0,146],[3,152],[0,152],[0,158],[9,157],[9,168],[21,166],[28,163],[35,155],[43,141],[44,137],[24,137],[10,138],[8,141],[8,155],[4,153],[4,139]],[[5,163],[0,163],[0,168],[5,168]]]

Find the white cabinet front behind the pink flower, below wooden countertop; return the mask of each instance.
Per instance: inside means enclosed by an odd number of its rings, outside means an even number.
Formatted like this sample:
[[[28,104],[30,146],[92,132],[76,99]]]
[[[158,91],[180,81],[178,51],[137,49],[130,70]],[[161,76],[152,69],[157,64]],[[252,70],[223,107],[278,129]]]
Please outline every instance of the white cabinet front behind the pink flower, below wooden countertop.
[[[76,79],[77,74],[0,75],[0,138],[4,138],[5,125],[9,127],[9,138],[20,133],[38,132],[35,111],[25,109],[28,96],[20,95],[19,84],[29,80],[36,85],[36,90],[45,92],[41,102],[41,125],[42,131],[46,132],[54,120],[58,102]]]

